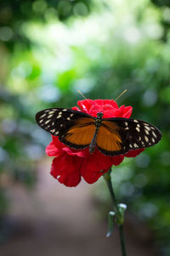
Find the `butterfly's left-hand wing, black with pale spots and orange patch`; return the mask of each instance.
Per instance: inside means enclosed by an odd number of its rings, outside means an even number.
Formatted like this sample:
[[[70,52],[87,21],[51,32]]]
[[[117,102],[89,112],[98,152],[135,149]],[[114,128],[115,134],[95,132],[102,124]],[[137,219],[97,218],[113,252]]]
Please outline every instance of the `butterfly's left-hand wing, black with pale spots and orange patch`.
[[[37,124],[65,145],[74,149],[86,148],[95,132],[94,117],[71,109],[52,108],[39,111]]]

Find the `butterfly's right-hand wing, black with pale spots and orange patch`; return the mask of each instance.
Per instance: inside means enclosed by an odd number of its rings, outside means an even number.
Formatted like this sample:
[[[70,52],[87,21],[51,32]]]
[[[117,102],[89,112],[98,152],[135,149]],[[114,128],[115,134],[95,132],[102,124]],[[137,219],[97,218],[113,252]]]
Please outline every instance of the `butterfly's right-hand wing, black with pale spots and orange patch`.
[[[104,118],[99,128],[97,146],[106,156],[155,145],[161,132],[148,122],[130,118]]]

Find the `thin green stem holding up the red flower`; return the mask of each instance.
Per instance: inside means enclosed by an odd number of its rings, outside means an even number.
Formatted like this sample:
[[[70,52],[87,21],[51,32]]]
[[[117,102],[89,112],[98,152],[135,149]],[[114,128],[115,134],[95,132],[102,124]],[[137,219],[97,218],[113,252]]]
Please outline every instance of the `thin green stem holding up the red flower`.
[[[113,190],[113,186],[111,183],[111,170],[109,170],[106,174],[104,174],[105,181],[108,185],[110,194],[111,194],[111,201],[113,203],[113,210],[116,213],[116,223],[119,227],[119,235],[120,235],[120,241],[121,241],[121,247],[122,247],[122,256],[127,256],[126,248],[125,248],[125,241],[124,241],[124,233],[123,233],[123,216],[120,212],[117,202],[116,202],[116,196],[115,192]]]

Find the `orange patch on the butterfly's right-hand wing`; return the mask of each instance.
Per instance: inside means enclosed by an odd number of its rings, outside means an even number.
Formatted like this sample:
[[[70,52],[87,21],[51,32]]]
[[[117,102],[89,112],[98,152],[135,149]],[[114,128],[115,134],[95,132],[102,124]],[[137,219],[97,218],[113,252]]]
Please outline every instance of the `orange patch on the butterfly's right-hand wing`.
[[[96,143],[105,151],[121,151],[122,139],[115,122],[104,121],[99,128]]]

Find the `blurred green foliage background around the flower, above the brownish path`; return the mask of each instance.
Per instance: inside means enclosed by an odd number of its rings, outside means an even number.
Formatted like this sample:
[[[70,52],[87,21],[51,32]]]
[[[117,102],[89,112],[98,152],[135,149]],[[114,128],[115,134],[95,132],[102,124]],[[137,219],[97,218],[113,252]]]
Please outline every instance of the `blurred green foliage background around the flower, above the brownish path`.
[[[77,89],[90,99],[116,99],[127,89],[118,104],[132,105],[132,117],[163,137],[114,168],[113,183],[119,201],[149,225],[161,255],[170,255],[169,28],[168,0],[1,0],[0,240],[8,186],[33,188],[50,141],[36,112],[76,105]]]

